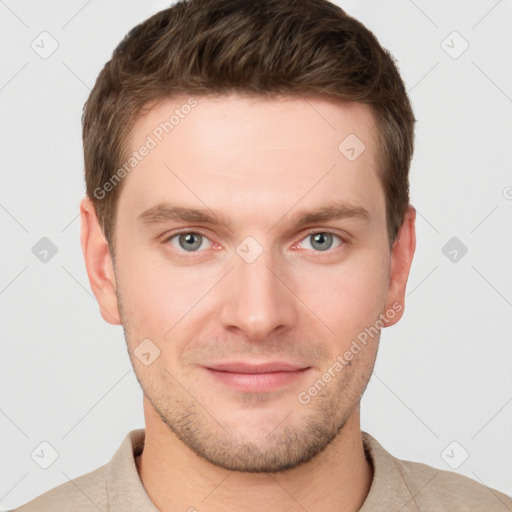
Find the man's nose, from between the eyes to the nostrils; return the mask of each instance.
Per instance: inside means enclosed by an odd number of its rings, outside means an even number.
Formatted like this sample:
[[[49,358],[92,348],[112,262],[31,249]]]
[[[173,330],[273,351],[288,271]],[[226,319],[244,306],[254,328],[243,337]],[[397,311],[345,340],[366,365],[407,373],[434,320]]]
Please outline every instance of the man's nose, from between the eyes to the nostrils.
[[[266,250],[252,263],[234,257],[235,266],[223,287],[222,326],[255,342],[294,327],[299,304],[283,265],[276,266]]]

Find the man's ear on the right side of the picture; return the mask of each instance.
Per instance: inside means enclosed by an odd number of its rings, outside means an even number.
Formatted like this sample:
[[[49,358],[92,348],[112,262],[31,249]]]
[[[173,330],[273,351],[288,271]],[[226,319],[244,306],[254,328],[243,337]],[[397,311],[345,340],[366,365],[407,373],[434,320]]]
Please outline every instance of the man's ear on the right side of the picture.
[[[386,311],[392,310],[395,312],[395,315],[393,315],[393,318],[388,318],[388,315],[385,315],[385,327],[396,324],[404,314],[405,288],[416,249],[415,221],[416,210],[414,207],[409,206],[391,251]]]

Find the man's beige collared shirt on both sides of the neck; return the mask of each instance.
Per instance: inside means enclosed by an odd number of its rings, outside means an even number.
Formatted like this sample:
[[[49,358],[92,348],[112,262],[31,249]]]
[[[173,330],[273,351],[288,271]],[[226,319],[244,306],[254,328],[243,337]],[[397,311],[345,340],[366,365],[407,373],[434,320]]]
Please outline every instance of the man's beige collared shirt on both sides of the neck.
[[[144,429],[132,430],[109,463],[55,487],[16,511],[158,512],[135,464],[135,456],[144,448],[144,435]],[[505,494],[457,473],[399,460],[366,432],[362,436],[374,476],[360,512],[512,511],[512,499]]]

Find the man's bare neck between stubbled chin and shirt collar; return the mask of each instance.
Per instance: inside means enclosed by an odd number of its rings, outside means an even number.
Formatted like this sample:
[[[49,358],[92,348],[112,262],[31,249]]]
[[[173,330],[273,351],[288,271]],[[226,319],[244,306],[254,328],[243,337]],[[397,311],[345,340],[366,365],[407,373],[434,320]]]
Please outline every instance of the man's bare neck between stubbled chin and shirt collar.
[[[214,466],[176,438],[145,397],[144,414],[146,438],[137,469],[161,512],[355,512],[370,490],[373,470],[364,454],[359,406],[322,453],[280,473]]]

